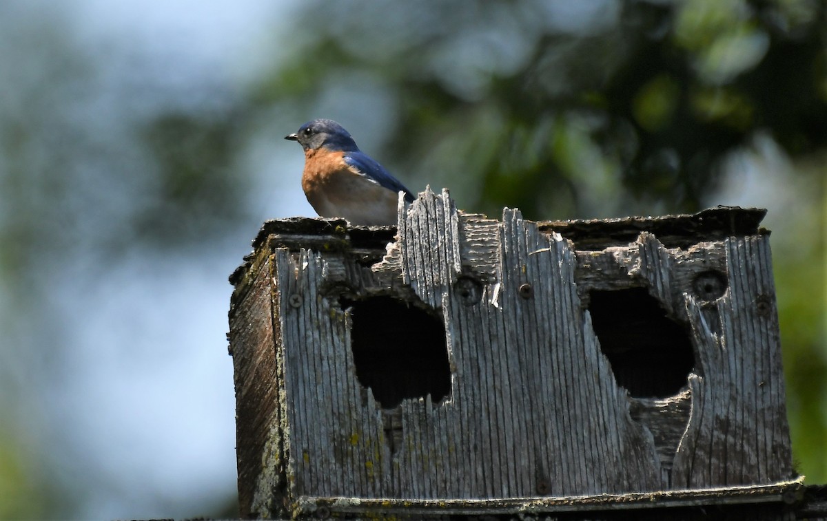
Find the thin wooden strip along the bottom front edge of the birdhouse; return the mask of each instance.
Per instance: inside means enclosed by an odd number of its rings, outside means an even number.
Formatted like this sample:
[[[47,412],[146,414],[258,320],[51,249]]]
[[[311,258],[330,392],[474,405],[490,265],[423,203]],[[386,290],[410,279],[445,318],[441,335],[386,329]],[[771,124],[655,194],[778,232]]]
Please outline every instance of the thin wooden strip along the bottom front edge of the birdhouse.
[[[304,496],[294,514],[562,514],[600,510],[662,509],[736,504],[796,504],[803,499],[804,477],[771,485],[733,486],[699,490],[660,490],[558,498],[498,500],[395,500],[320,498]]]

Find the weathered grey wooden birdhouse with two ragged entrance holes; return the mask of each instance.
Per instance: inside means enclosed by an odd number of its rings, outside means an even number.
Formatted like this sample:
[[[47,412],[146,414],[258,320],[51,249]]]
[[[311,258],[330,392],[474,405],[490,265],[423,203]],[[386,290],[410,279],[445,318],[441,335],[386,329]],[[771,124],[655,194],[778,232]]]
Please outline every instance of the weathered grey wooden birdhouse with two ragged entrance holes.
[[[241,514],[792,519],[763,216],[428,190],[398,230],[265,223],[231,279]]]

